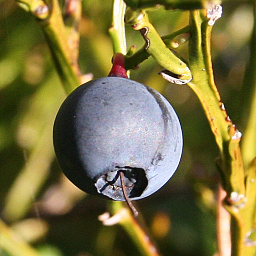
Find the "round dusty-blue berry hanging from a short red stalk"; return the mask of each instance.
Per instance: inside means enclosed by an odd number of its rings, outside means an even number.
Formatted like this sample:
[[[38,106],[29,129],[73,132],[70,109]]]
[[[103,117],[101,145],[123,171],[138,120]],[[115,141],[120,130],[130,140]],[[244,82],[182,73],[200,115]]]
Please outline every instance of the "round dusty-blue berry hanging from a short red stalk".
[[[147,197],[172,177],[182,131],[170,103],[150,87],[122,77],[79,86],[62,103],[53,129],[61,169],[78,188],[124,201]]]

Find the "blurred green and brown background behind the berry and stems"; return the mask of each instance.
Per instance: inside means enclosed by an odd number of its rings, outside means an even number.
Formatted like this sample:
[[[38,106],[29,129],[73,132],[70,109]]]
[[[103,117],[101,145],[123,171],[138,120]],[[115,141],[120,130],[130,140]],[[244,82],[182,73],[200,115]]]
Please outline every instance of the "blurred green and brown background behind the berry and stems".
[[[63,3],[62,3],[63,5]],[[225,1],[213,28],[215,82],[228,115],[245,129],[242,84],[250,56],[253,7]],[[79,66],[94,78],[106,76],[113,47],[110,0],[84,0]],[[187,11],[151,12],[160,35],[188,24]],[[127,46],[143,45],[126,27]],[[186,58],[187,44],[178,52]],[[149,58],[131,78],[161,92],[177,111],[183,157],[173,178],[154,195],[136,202],[163,255],[210,256],[217,250],[215,166],[218,148],[201,105],[186,85],[173,85]],[[103,199],[85,195],[63,177],[54,157],[52,124],[65,93],[41,28],[14,0],[0,1],[0,211],[15,233],[42,255],[139,255],[119,226],[103,226]],[[1,242],[0,242],[1,244]],[[0,249],[0,255],[9,255]]]

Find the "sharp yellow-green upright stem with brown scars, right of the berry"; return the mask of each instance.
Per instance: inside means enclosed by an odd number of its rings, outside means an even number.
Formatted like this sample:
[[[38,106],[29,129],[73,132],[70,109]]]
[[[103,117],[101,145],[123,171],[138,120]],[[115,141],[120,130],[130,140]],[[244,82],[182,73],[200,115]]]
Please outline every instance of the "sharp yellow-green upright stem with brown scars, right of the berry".
[[[240,209],[245,204],[244,170],[239,141],[241,134],[228,117],[214,83],[211,61],[211,30],[204,11],[190,12],[191,37],[189,67],[193,81],[188,83],[202,103],[220,150],[220,171],[227,191],[226,209],[231,214],[232,255],[244,256],[244,220]]]

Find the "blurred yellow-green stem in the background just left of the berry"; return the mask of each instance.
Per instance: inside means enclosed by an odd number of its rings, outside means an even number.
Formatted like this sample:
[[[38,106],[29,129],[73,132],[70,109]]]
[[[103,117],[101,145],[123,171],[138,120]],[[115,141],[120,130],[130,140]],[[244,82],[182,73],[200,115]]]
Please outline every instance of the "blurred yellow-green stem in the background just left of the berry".
[[[61,87],[58,90],[52,86],[54,84],[58,84],[58,77],[55,74],[34,94],[26,113],[27,119],[35,119],[35,115],[38,115],[37,110],[42,109],[42,98],[47,101],[44,103],[45,111],[42,110],[35,121],[37,126],[33,126],[33,129],[41,131],[38,134],[38,141],[29,151],[26,164],[20,170],[6,195],[3,216],[9,222],[20,220],[26,216],[45,180],[49,177],[50,166],[55,156],[52,144],[52,126],[55,113],[65,98]],[[30,185],[28,186],[28,184]]]

